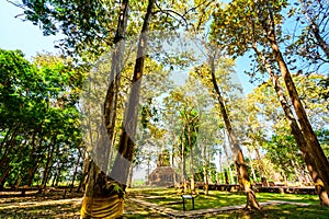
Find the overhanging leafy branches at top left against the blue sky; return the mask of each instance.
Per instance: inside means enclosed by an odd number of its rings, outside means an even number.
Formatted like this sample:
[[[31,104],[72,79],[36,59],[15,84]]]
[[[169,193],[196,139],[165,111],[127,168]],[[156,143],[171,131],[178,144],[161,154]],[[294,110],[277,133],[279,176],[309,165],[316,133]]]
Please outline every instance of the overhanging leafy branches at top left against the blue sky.
[[[69,55],[99,56],[115,37],[117,8],[114,1],[23,0],[26,20],[39,25],[44,35],[61,33],[60,47]]]

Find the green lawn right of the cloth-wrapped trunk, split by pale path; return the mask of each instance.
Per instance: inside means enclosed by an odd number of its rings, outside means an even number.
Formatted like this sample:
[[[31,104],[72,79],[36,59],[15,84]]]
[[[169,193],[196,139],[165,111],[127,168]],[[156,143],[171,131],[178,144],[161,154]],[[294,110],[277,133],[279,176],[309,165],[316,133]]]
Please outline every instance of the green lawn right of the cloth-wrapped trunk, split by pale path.
[[[134,188],[128,191],[128,196],[132,194],[133,196],[149,203],[175,210],[182,210],[180,191],[174,188]],[[310,206],[273,205],[264,206],[262,212],[236,210],[223,212],[217,216],[205,216],[205,218],[329,218],[329,209],[319,205],[317,195],[257,193],[257,198],[259,201],[285,200],[306,203],[310,204]],[[209,195],[198,195],[195,198],[195,210],[245,204],[245,194],[211,191]],[[188,200],[185,206],[186,209],[191,210],[191,200]],[[126,207],[128,208],[128,206]]]

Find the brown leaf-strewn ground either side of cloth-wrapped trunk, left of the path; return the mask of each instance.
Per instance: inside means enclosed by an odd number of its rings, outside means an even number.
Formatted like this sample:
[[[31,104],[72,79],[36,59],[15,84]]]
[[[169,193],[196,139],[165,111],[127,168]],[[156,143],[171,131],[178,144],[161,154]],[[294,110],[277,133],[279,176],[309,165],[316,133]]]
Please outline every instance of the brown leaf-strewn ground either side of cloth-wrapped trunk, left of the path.
[[[80,218],[82,196],[82,193],[65,193],[64,189],[47,189],[44,194],[32,191],[25,196],[21,192],[0,192],[0,218]],[[163,217],[127,197],[124,218],[136,218],[136,215],[137,218]]]

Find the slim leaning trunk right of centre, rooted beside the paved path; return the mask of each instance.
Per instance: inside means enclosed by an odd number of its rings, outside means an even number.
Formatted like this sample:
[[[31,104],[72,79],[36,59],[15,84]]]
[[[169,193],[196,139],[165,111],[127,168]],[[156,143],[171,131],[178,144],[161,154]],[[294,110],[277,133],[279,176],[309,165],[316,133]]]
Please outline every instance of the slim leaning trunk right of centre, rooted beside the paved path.
[[[225,107],[225,103],[222,96],[222,93],[219,91],[217,81],[216,81],[216,77],[215,77],[215,61],[213,57],[209,57],[209,62],[211,62],[211,74],[212,74],[212,83],[214,85],[214,90],[217,94],[217,100],[218,100],[218,104],[219,104],[219,110],[222,113],[222,117],[224,119],[225,123],[225,127],[227,130],[227,134],[229,136],[229,139],[232,142],[232,152],[235,158],[235,165],[237,169],[237,173],[238,173],[238,180],[239,180],[239,184],[240,186],[245,189],[246,195],[247,195],[247,205],[246,205],[246,209],[260,209],[260,205],[257,201],[256,195],[253,193],[253,191],[251,189],[251,185],[250,185],[250,177],[249,177],[249,173],[247,170],[247,165],[245,163],[245,158],[243,158],[243,153],[242,150],[238,143],[238,139],[236,137],[236,134],[232,130],[231,127],[231,123],[227,113],[227,110]]]

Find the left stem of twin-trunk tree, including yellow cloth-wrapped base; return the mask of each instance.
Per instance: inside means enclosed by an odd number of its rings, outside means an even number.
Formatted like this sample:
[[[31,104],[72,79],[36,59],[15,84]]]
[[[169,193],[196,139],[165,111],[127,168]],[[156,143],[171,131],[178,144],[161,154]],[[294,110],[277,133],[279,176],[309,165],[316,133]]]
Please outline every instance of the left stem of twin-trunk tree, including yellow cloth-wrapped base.
[[[104,101],[104,123],[107,130],[109,138],[113,138],[115,119],[116,119],[116,104],[117,104],[117,94],[121,79],[121,71],[123,69],[123,59],[126,44],[126,28],[129,11],[129,0],[123,0],[121,2],[121,10],[118,14],[116,34],[114,38],[114,46],[112,51],[111,60],[111,72],[110,72],[110,87],[106,92],[106,97]],[[102,119],[103,120],[103,119]],[[102,126],[102,125],[101,125]],[[111,146],[110,146],[111,148]],[[109,194],[110,187],[106,188],[106,177],[105,173],[98,166],[95,162],[107,162],[101,161],[102,155],[99,153],[109,153],[109,147],[97,147],[93,149],[95,154],[92,154],[92,160],[88,164],[88,178],[86,192],[81,206],[81,218],[88,219],[93,217],[121,217],[123,211],[123,198],[122,195],[112,195]],[[107,168],[107,166],[106,166]],[[111,186],[113,189],[113,186]],[[104,192],[104,193],[103,193]],[[105,215],[101,214],[102,209],[114,210],[114,212],[107,212]]]

